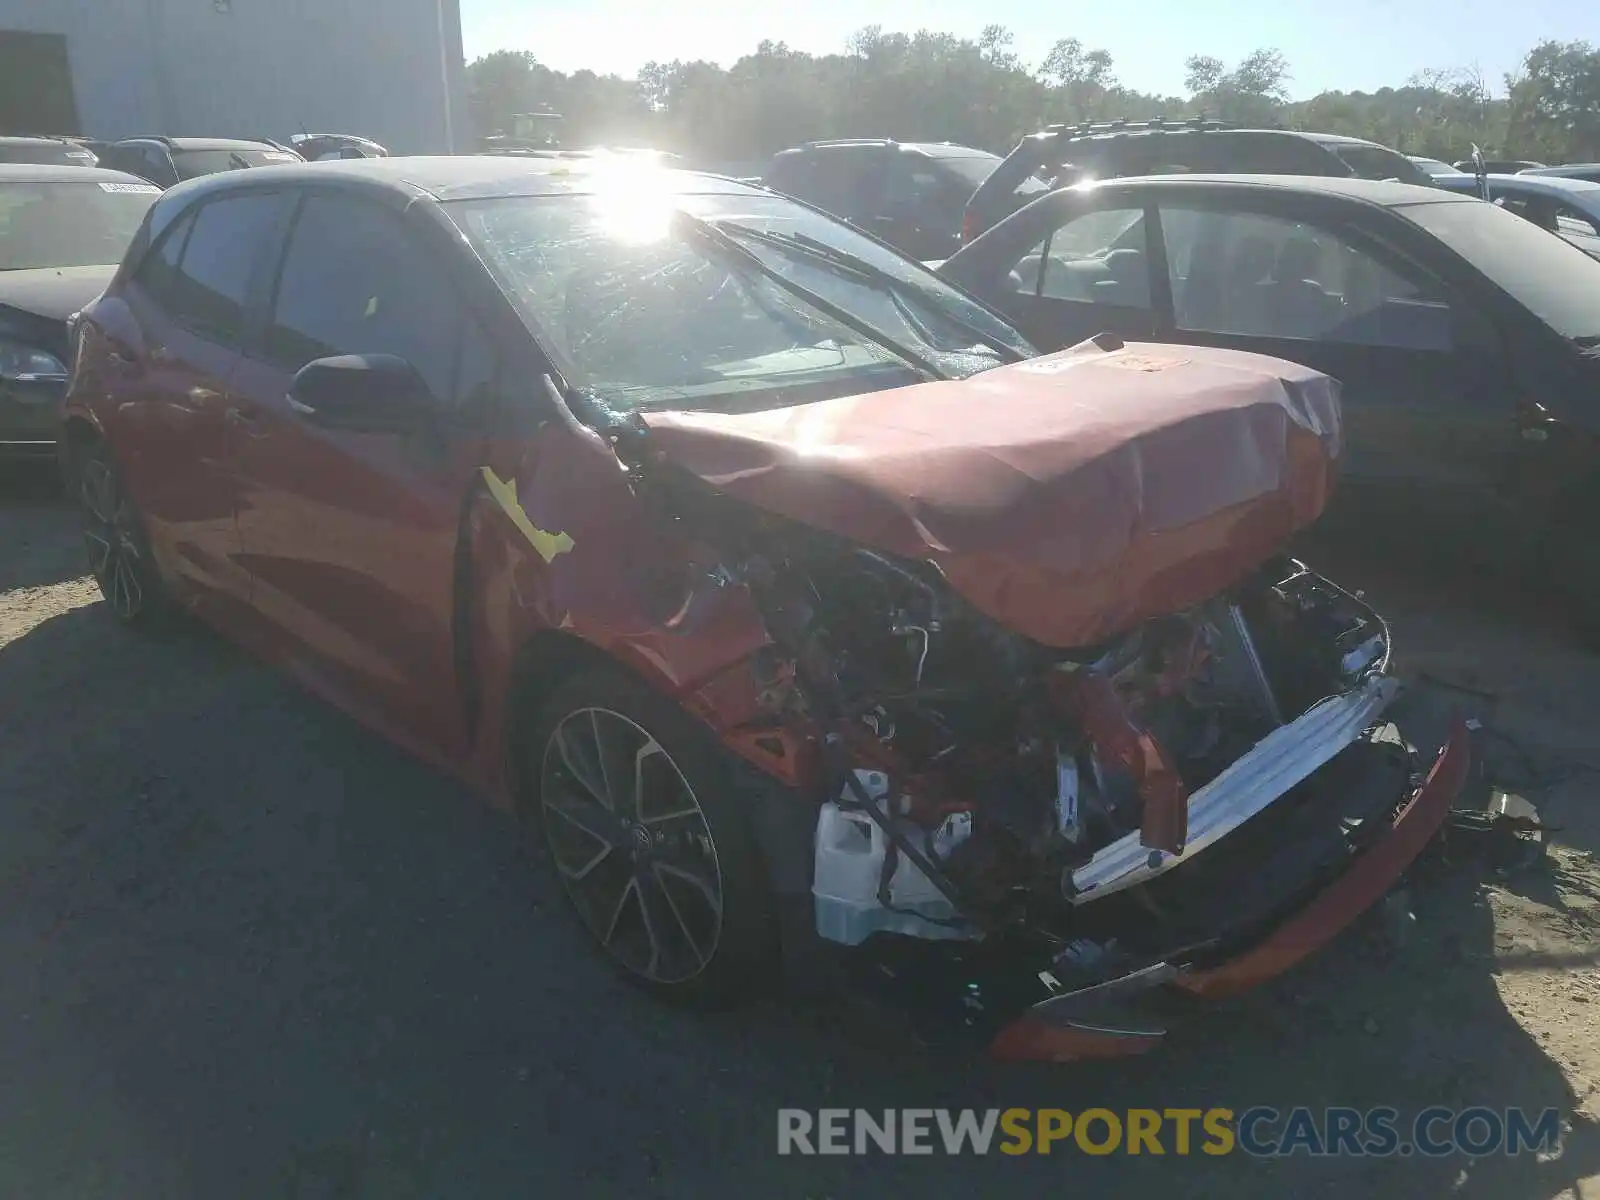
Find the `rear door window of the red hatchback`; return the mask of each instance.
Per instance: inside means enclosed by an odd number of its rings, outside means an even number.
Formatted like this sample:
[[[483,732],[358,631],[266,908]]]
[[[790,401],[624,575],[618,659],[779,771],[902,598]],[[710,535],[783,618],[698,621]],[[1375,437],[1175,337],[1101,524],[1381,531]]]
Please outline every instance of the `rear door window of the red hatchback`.
[[[173,320],[210,341],[238,346],[251,277],[288,205],[288,195],[272,192],[202,205],[171,280]]]

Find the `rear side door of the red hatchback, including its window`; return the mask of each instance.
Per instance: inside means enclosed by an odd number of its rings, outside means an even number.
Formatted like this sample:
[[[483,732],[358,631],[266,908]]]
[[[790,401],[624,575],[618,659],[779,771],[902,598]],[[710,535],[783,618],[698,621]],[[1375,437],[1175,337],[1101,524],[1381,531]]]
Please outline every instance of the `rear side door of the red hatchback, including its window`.
[[[114,346],[117,445],[147,533],[171,568],[205,592],[243,600],[229,389],[253,288],[288,214],[288,197],[242,192],[200,203],[150,248],[125,290],[136,344]]]

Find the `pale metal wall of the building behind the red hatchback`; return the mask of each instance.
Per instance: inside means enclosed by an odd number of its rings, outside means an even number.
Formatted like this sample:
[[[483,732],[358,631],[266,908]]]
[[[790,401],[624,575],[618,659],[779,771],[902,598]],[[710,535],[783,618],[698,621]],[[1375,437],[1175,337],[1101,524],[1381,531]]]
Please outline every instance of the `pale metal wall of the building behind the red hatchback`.
[[[470,149],[459,0],[0,0],[0,30],[66,35],[91,138]]]

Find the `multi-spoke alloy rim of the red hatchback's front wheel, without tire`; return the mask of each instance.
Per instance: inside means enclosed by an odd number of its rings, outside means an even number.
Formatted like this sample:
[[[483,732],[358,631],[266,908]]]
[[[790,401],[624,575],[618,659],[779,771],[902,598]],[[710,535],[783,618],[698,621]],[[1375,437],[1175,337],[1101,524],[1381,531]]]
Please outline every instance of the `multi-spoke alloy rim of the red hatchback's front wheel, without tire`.
[[[722,869],[683,771],[610,709],[570,712],[539,771],[550,858],[608,954],[656,984],[706,970],[722,936]]]

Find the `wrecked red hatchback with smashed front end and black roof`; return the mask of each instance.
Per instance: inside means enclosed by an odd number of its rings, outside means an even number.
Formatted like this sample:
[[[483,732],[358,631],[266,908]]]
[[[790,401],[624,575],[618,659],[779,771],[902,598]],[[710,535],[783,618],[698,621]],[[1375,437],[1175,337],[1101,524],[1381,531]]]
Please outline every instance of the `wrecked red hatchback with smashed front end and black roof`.
[[[794,200],[507,158],[174,187],[62,430],[122,621],[515,811],[629,976],[910,962],[1054,1059],[1318,947],[1461,784],[1459,730],[1394,736],[1382,619],[1283,555],[1338,451],[1315,371],[1035,357]]]

